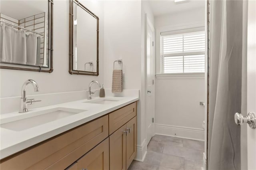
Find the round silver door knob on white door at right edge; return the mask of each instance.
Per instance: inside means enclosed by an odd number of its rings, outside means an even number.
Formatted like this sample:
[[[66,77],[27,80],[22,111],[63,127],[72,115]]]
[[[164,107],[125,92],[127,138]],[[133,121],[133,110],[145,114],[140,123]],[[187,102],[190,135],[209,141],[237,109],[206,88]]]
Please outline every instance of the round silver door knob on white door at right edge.
[[[256,128],[256,117],[255,114],[250,112],[247,116],[243,117],[241,113],[235,114],[235,123],[236,125],[243,125],[248,123],[250,128]]]

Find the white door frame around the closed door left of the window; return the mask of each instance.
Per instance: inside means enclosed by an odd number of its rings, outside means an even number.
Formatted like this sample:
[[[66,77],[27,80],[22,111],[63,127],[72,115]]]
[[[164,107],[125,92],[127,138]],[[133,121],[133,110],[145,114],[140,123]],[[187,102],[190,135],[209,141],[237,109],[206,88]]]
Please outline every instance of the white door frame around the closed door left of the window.
[[[148,34],[148,26],[150,26],[150,29],[153,31],[153,43],[154,43],[154,47],[153,47],[153,59],[152,59],[152,70],[153,70],[153,74],[155,75],[155,28],[153,26],[153,24],[150,22],[147,14],[145,14],[145,55],[144,55],[144,59],[145,59],[145,107],[147,106],[147,67],[146,67],[146,63],[147,63],[147,34]],[[153,79],[153,82],[154,82],[154,85],[152,86],[152,98],[153,98],[153,119],[154,119],[154,123],[152,124],[153,125],[153,129],[155,129],[155,76],[153,75],[152,79]],[[145,108],[145,111],[146,111],[146,108]],[[147,141],[147,118],[146,118],[146,113],[145,113],[145,130],[146,130],[146,141]],[[153,136],[155,134],[155,130],[153,132]]]

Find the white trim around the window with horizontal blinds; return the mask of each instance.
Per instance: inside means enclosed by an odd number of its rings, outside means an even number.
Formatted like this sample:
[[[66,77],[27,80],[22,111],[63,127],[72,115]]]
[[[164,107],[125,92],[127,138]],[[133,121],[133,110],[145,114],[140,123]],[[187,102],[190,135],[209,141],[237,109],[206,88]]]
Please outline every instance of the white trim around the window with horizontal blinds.
[[[179,30],[185,30],[185,29],[194,29],[194,28],[205,28],[204,21],[200,22],[193,22],[193,23],[187,23],[187,24],[177,24],[173,26],[164,26],[164,27],[157,27],[156,28],[156,77],[159,79],[160,77],[198,77],[197,75],[204,75],[204,73],[161,73],[161,67],[162,67],[162,57],[160,53],[160,38],[161,38],[161,32],[171,32],[171,31],[179,31]],[[202,52],[200,52],[202,53]],[[204,52],[205,53],[205,52]],[[160,76],[163,75],[163,76]],[[168,75],[168,76],[166,76]],[[179,75],[179,76],[177,76]],[[184,75],[184,76],[183,76]],[[194,76],[196,75],[196,76]],[[204,77],[204,76],[203,76]]]

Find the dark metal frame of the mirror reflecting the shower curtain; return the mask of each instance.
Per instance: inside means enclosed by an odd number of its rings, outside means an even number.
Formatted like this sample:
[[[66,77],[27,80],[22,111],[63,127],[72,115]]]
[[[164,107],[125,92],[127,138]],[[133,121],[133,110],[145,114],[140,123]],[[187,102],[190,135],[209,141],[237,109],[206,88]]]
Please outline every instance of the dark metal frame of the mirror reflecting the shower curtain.
[[[16,64],[16,63],[13,63],[13,64],[23,65],[23,64]],[[0,65],[0,69],[37,71],[37,72],[46,72],[46,73],[52,73],[53,71],[53,0],[48,0],[48,67],[42,67],[37,65],[24,65],[24,66],[38,67],[38,68],[34,69],[34,68],[11,67],[11,66]],[[49,68],[49,69],[44,69],[44,68]]]

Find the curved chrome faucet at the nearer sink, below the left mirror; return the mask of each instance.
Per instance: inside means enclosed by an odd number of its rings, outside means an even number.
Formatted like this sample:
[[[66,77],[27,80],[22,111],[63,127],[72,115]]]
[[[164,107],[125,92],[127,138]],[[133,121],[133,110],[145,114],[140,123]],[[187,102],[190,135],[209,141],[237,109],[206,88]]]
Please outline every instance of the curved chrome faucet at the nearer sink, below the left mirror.
[[[28,99],[26,97],[26,87],[28,84],[32,84],[34,87],[34,91],[39,91],[38,84],[34,80],[27,80],[25,83],[22,85],[21,89],[21,98],[20,98],[20,111],[19,113],[25,113],[28,112],[27,105],[32,105],[35,102],[41,101],[41,100],[35,100],[35,99]]]

